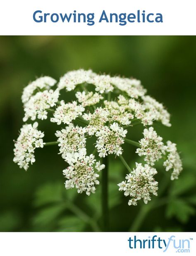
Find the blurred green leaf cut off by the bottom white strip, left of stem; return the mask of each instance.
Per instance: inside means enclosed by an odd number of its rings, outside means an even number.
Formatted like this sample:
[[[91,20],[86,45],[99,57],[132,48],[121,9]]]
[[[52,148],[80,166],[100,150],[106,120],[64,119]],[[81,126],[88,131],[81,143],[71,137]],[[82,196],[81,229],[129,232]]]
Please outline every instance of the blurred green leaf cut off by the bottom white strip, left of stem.
[[[86,223],[77,217],[67,216],[63,217],[59,222],[58,231],[67,231],[67,232],[80,232],[84,231]]]

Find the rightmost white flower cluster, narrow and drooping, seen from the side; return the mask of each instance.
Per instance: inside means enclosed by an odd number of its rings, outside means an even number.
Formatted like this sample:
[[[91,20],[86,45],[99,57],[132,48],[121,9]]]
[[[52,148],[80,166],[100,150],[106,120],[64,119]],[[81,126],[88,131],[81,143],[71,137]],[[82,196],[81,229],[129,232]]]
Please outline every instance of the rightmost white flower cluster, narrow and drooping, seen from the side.
[[[167,141],[167,160],[163,163],[166,167],[166,171],[173,169],[171,180],[178,179],[180,172],[182,172],[182,161],[177,152],[176,144],[170,140]]]

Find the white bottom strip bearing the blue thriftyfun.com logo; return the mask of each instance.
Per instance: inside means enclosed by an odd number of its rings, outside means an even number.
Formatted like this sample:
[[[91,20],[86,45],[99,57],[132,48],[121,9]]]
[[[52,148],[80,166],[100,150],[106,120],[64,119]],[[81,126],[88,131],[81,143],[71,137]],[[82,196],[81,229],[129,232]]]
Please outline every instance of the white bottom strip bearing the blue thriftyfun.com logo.
[[[0,255],[196,255],[192,232],[0,233]]]

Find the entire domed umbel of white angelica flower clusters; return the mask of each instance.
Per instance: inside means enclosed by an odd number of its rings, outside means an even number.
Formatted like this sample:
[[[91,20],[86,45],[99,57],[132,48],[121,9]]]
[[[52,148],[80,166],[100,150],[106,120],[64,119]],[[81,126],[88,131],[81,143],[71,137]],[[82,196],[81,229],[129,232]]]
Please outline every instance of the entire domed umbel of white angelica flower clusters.
[[[60,98],[63,90],[75,92],[72,101]],[[108,154],[120,157],[129,170],[126,180],[118,184],[119,190],[130,197],[129,205],[136,205],[140,199],[147,203],[151,194],[157,195],[158,182],[154,180],[157,170],[153,166],[160,158],[165,160],[166,171],[171,170],[171,180],[177,179],[182,171],[176,144],[163,143],[152,127],[154,121],[171,126],[170,114],[161,103],[146,95],[139,80],[79,69],[69,71],[58,83],[48,76],[36,79],[24,88],[22,102],[24,122],[47,119],[50,112],[50,121],[63,127],[56,131],[54,143],[69,164],[63,170],[66,189],[76,187],[78,193],[95,193],[98,173],[105,168],[100,160]],[[125,128],[138,123],[145,128],[143,138],[135,142],[126,138]],[[98,160],[95,153],[86,153],[86,140],[92,136],[96,138],[94,152],[98,152]],[[35,162],[36,148],[54,144],[43,142],[43,137],[37,122],[23,125],[14,148],[14,162],[20,168],[27,170],[29,163]],[[136,153],[146,164],[136,163],[131,170],[122,157],[124,142],[136,146]]]

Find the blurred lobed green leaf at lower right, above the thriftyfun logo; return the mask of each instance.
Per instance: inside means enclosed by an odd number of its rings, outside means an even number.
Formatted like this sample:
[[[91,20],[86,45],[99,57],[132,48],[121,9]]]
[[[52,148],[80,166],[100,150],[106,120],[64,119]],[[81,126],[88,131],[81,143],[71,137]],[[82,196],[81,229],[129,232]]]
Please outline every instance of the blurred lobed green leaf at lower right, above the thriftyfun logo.
[[[185,223],[193,215],[195,209],[182,199],[172,199],[167,205],[166,216],[176,217],[180,222]]]

